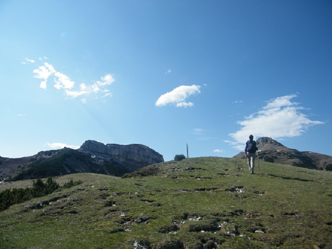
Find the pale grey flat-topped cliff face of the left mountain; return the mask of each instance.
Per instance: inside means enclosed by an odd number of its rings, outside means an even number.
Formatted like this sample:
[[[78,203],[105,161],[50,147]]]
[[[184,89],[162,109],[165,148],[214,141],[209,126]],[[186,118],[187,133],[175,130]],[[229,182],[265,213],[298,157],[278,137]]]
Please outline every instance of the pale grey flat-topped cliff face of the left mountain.
[[[112,159],[134,171],[151,164],[164,162],[162,155],[143,144],[104,144],[93,140],[85,141],[78,149],[96,157]]]

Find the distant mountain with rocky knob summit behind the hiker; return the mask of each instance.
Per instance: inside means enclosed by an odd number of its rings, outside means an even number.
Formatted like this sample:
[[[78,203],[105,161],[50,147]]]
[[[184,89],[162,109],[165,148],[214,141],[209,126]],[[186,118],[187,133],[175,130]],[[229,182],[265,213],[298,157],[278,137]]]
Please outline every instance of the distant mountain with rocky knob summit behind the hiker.
[[[259,160],[302,168],[332,171],[331,156],[313,152],[300,152],[293,148],[288,148],[270,137],[260,137],[256,142],[259,150]],[[245,157],[245,153],[241,152],[233,158]]]

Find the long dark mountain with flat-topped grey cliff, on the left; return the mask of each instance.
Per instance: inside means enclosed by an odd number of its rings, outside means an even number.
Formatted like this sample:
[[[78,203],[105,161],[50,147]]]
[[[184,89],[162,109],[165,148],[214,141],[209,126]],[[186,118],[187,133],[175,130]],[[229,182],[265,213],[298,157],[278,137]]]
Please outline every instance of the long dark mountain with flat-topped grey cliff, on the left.
[[[78,150],[43,151],[31,157],[0,157],[0,181],[24,180],[73,173],[100,173],[122,176],[164,162],[163,156],[143,144],[104,144],[85,141]]]

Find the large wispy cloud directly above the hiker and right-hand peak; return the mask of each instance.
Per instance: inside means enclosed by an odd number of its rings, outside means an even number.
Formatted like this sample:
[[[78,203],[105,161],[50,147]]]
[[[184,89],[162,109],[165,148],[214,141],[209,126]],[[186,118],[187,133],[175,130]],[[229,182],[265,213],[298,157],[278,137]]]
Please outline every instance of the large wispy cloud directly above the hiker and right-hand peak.
[[[243,150],[243,144],[250,134],[255,137],[267,136],[276,138],[295,137],[302,135],[309,127],[324,124],[321,121],[310,120],[301,111],[299,103],[291,99],[296,94],[271,99],[257,113],[251,114],[243,121],[238,121],[242,128],[229,134],[234,139],[233,147]]]

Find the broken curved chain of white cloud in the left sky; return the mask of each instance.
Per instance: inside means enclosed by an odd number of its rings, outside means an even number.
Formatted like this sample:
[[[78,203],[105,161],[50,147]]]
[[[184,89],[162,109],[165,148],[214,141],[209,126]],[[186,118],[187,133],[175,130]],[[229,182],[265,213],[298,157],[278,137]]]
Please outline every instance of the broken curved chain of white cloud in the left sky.
[[[44,59],[47,59],[44,57]],[[40,60],[42,60],[40,58]],[[55,84],[54,87],[58,90],[64,90],[64,93],[68,97],[76,98],[78,96],[89,95],[89,94],[100,94],[101,97],[112,96],[112,93],[106,88],[111,85],[115,79],[113,75],[106,74],[101,77],[101,80],[94,81],[93,84],[87,85],[85,83],[79,84],[78,89],[75,89],[75,81],[73,81],[69,76],[61,73],[53,67],[53,65],[45,62],[37,69],[33,70],[35,74],[33,77],[41,79],[39,87],[45,89],[48,84],[50,77],[53,78]],[[98,97],[98,96],[97,96]],[[86,98],[82,99],[82,103],[86,103]]]

